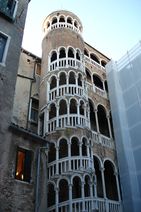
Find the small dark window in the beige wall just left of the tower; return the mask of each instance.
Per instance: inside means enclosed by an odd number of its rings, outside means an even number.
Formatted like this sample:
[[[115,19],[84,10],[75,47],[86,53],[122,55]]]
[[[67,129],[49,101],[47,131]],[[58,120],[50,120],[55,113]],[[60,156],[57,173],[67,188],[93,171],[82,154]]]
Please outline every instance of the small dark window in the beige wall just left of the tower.
[[[31,112],[30,112],[30,121],[37,123],[38,122],[38,108],[39,101],[37,99],[31,99]]]

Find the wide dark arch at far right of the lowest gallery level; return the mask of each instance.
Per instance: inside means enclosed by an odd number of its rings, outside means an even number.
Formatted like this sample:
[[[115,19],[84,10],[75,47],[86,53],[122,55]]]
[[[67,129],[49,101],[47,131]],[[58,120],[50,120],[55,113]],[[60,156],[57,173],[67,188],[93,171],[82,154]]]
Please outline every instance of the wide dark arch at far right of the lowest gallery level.
[[[106,196],[108,199],[118,200],[116,177],[114,175],[114,166],[111,161],[104,163],[104,178],[106,187]]]

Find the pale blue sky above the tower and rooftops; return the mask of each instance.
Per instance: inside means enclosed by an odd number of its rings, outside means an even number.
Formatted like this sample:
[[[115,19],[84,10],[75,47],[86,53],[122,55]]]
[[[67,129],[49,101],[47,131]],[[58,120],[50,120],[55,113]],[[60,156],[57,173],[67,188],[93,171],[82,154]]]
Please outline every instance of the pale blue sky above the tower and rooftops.
[[[42,23],[56,10],[76,14],[84,41],[110,59],[118,60],[141,40],[141,0],[31,0],[24,49],[41,57]]]

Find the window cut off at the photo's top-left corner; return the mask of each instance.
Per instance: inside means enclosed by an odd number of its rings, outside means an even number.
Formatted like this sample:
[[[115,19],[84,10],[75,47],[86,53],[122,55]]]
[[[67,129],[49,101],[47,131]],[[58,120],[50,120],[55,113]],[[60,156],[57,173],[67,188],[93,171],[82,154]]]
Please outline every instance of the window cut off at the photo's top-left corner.
[[[17,8],[17,0],[0,0],[0,12],[7,18],[13,19]]]

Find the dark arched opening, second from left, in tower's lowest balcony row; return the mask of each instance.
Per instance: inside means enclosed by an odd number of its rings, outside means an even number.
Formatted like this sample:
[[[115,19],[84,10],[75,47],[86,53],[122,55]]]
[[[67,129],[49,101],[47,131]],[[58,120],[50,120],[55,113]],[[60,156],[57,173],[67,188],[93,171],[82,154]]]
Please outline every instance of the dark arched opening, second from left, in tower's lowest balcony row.
[[[61,179],[59,182],[59,202],[64,202],[69,199],[69,186],[65,179]]]

